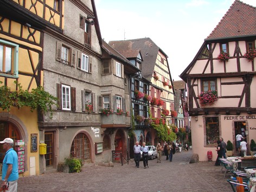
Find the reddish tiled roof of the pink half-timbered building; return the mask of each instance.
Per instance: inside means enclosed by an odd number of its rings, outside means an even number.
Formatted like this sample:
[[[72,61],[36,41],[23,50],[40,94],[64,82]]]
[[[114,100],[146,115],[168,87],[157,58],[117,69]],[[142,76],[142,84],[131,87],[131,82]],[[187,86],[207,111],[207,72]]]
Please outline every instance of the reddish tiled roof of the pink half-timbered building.
[[[206,40],[256,35],[256,8],[235,0]]]

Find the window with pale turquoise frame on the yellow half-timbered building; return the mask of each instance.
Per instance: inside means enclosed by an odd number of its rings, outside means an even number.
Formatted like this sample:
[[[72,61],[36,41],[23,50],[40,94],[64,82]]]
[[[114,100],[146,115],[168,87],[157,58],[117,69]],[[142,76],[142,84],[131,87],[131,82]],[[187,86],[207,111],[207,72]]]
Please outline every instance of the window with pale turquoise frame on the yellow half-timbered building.
[[[18,45],[0,40],[0,75],[18,77]]]

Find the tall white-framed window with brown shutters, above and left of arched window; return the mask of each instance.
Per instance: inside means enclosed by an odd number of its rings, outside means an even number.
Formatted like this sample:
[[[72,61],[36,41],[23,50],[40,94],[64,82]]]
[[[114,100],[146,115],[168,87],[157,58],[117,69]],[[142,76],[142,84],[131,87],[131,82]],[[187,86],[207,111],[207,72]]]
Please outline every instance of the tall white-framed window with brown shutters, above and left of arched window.
[[[57,84],[57,109],[75,111],[75,87]]]

